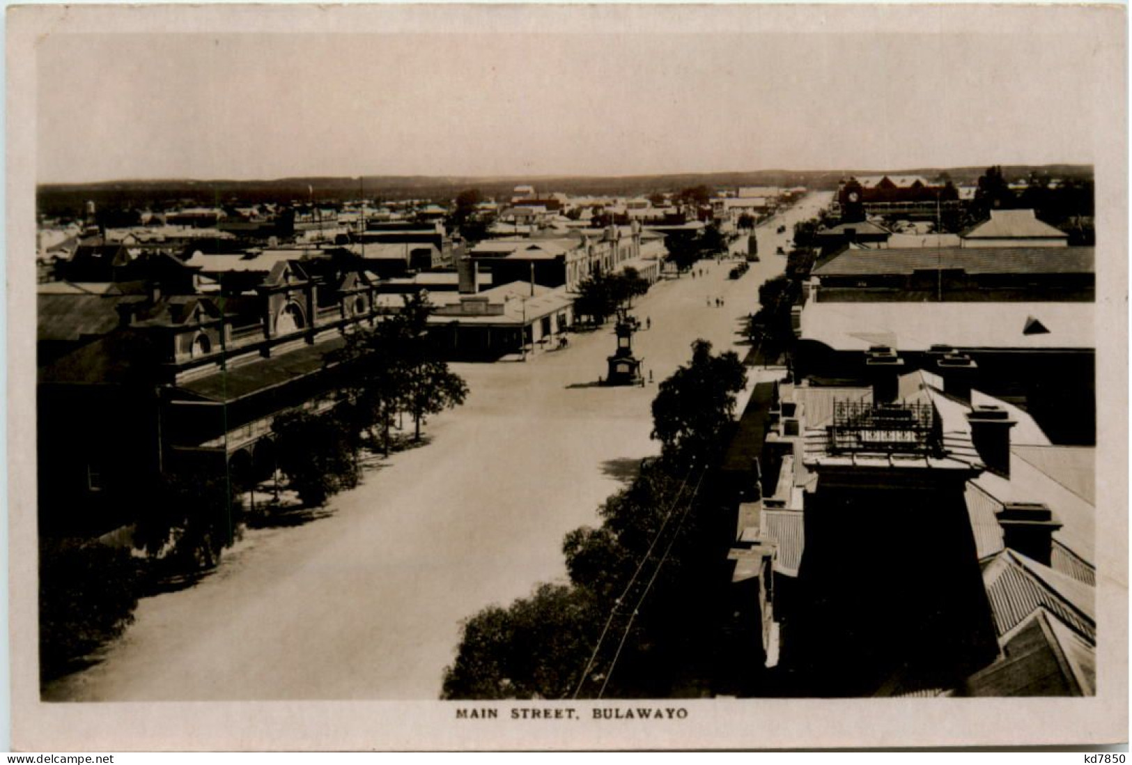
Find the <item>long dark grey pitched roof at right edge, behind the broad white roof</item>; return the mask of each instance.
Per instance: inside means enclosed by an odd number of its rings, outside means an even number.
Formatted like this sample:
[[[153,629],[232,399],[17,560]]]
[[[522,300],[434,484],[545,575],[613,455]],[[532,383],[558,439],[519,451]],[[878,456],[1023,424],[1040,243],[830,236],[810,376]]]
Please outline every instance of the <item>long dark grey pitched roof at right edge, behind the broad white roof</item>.
[[[968,274],[1092,274],[1091,247],[849,248],[814,269],[814,276],[910,276],[923,270]]]

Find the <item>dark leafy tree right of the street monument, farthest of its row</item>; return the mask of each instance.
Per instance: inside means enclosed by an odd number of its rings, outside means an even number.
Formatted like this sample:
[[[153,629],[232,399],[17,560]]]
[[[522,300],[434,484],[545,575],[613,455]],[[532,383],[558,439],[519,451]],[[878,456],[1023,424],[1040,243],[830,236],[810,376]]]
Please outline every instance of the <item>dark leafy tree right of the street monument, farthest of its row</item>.
[[[736,394],[747,386],[735,352],[713,355],[711,347],[705,339],[694,342],[691,363],[663,380],[652,402],[652,437],[661,442],[661,454],[678,464],[705,464],[720,452]]]

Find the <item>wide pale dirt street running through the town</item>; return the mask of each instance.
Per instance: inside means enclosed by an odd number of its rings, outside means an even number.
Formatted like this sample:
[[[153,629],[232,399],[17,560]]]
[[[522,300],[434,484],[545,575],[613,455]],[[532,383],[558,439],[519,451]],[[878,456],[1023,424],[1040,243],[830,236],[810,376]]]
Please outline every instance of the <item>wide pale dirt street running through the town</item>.
[[[761,227],[762,261],[743,278],[704,263],[702,277],[661,282],[637,302],[652,328],[635,347],[655,381],[697,337],[745,354],[740,319],[784,265],[774,248],[827,200],[812,195]],[[437,698],[461,620],[564,577],[563,535],[597,523],[602,499],[658,452],[655,382],[594,385],[614,345],[607,327],[525,363],[454,364],[471,395],[428,423],[427,446],[375,466],[326,517],[249,531],[196,586],[143,600],[104,661],[48,697]]]

